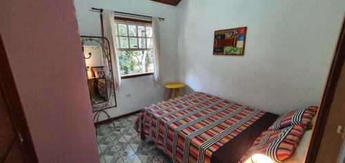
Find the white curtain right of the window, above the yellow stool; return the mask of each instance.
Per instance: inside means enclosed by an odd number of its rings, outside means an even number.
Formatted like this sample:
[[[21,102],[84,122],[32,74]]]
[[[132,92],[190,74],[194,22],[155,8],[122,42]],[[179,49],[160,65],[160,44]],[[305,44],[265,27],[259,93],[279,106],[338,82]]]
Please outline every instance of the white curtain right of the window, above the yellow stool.
[[[155,69],[153,71],[153,79],[157,82],[160,80],[159,78],[159,56],[160,56],[160,45],[159,45],[159,18],[152,17],[152,32],[153,32],[153,52],[155,54],[154,59],[154,66]]]

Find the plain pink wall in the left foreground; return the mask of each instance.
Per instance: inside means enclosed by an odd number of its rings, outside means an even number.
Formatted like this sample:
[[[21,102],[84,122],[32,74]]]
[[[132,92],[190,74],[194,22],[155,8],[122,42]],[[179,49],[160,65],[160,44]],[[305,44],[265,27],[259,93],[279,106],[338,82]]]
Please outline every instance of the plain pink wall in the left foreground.
[[[99,162],[73,1],[0,6],[0,32],[39,162]]]

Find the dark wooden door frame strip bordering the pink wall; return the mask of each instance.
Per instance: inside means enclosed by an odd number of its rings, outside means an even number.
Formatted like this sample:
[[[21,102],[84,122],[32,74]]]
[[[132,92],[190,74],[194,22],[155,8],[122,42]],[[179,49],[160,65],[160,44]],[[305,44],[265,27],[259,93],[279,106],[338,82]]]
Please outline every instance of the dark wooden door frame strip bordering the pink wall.
[[[38,162],[34,144],[28,128],[23,106],[19,97],[17,86],[15,85],[10,62],[6,54],[5,45],[0,34],[0,87],[4,95],[5,105],[10,114],[12,127],[17,132],[19,142],[21,142],[21,152],[25,162]]]

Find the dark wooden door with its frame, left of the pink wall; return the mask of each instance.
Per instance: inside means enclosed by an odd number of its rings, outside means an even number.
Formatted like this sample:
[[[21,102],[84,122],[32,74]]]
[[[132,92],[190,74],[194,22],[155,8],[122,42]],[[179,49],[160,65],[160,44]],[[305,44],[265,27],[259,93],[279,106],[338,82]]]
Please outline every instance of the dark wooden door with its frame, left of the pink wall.
[[[38,162],[0,35],[0,163]]]

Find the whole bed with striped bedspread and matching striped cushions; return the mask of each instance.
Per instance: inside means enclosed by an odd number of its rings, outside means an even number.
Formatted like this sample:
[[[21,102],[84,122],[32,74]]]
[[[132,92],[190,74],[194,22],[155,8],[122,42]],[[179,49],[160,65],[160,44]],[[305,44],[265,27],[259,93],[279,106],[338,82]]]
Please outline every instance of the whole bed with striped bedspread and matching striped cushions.
[[[172,162],[295,163],[304,161],[311,137],[307,130],[317,108],[301,107],[278,116],[194,92],[145,107],[135,130]]]

